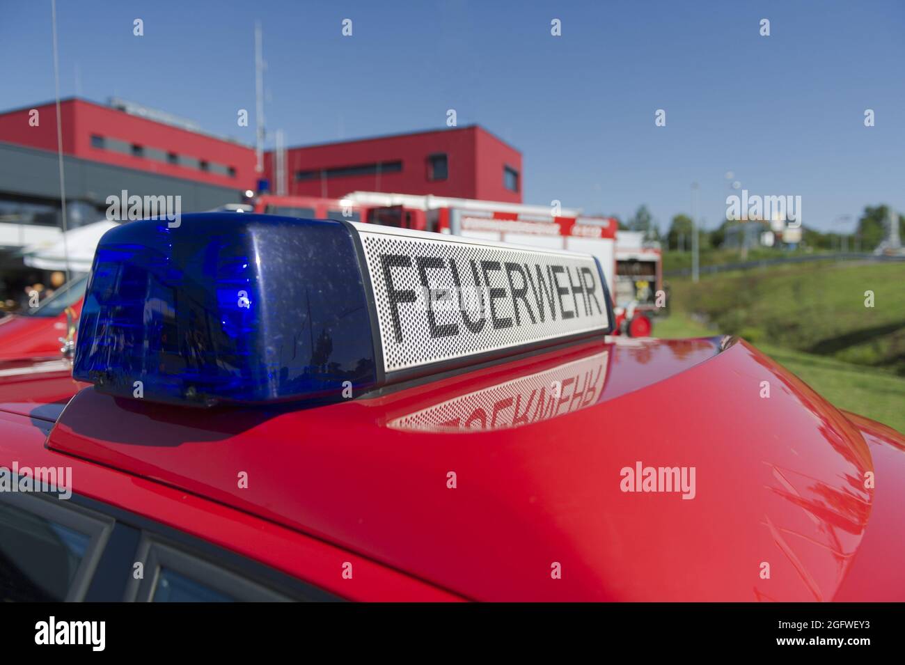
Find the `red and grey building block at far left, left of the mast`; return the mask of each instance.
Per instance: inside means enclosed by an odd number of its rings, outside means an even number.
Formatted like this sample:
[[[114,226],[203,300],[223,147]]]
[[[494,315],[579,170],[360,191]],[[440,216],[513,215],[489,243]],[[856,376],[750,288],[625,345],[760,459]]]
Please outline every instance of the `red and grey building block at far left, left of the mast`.
[[[116,103],[61,101],[71,226],[96,222],[107,196],[122,190],[181,195],[190,212],[241,201],[254,186],[251,147],[201,133],[163,111]],[[55,104],[0,113],[0,223],[60,224],[56,151]]]

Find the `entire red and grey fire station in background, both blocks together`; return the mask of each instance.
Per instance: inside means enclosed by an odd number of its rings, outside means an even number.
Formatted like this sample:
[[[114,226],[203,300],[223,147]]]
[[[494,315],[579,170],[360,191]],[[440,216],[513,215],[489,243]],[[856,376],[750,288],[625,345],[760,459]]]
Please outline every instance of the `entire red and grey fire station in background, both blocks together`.
[[[273,151],[258,173],[252,146],[205,133],[167,111],[76,98],[61,100],[60,110],[71,229],[103,219],[108,196],[121,198],[123,191],[143,203],[178,196],[181,213],[242,203],[259,181],[277,191]],[[288,195],[338,198],[359,190],[522,200],[521,153],[474,125],[292,147],[283,154]],[[24,265],[21,249],[57,242],[61,228],[56,104],[0,112],[0,300],[47,277]]]

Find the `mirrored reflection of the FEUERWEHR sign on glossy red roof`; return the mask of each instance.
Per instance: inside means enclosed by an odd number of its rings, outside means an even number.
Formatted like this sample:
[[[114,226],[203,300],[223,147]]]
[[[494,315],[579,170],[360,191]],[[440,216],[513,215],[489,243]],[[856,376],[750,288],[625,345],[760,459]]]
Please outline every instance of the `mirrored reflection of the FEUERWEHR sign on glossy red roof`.
[[[584,409],[600,398],[608,351],[463,394],[387,423],[397,430],[499,430]]]

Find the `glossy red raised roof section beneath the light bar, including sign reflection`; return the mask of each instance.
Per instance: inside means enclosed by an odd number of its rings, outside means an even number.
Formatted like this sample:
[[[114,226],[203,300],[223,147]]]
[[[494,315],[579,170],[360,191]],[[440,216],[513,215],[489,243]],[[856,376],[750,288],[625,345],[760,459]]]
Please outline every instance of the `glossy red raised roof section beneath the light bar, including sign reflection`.
[[[868,444],[754,348],[719,347],[607,338],[295,410],[89,388],[48,443],[475,599],[831,600],[871,517]]]

